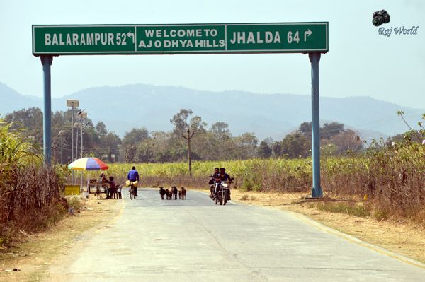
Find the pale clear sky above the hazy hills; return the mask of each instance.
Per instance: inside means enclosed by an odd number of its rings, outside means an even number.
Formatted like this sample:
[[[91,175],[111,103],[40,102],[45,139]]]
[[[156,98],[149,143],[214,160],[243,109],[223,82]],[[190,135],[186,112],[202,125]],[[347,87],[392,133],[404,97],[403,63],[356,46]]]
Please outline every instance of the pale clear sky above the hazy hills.
[[[419,26],[417,34],[379,35],[372,13],[382,8],[391,17],[382,26]],[[370,96],[424,109],[424,14],[422,0],[0,0],[0,82],[23,95],[42,96],[42,65],[32,54],[33,24],[328,21],[320,95]],[[52,97],[132,83],[310,95],[310,71],[305,54],[60,56],[52,64]]]

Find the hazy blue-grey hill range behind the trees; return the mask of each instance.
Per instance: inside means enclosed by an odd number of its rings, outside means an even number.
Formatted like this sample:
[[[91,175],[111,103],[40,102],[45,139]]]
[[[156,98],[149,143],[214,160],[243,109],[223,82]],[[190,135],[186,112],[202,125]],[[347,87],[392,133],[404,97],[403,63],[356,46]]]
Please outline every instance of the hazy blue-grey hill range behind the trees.
[[[42,105],[41,98],[27,97],[0,83],[0,112]],[[87,88],[63,98],[52,99],[52,110],[66,110],[67,99],[80,100],[89,117],[105,122],[123,136],[132,127],[149,131],[171,129],[169,120],[181,108],[193,110],[208,124],[227,122],[232,134],[251,131],[264,139],[280,140],[311,120],[310,95],[264,95],[242,91],[212,92],[175,86],[135,84]],[[363,138],[394,135],[407,130],[397,110],[404,110],[416,124],[425,110],[402,107],[368,97],[320,98],[321,122],[341,122],[357,129]],[[412,113],[412,114],[410,114]]]

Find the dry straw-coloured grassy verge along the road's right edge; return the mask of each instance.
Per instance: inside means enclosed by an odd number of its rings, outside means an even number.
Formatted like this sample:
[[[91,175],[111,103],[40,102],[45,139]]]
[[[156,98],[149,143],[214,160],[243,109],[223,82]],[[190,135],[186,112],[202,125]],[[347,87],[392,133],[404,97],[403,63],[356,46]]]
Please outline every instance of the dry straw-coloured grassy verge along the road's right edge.
[[[418,228],[412,221],[397,218],[378,221],[373,213],[370,215],[361,213],[361,216],[354,216],[354,212],[351,213],[349,210],[348,212],[341,212],[341,210],[335,211],[333,208],[319,209],[317,208],[318,204],[324,206],[326,203],[331,205],[343,203],[341,204],[342,207],[361,206],[361,204],[352,203],[345,199],[336,202],[326,202],[326,200],[325,202],[310,202],[304,201],[305,196],[307,196],[306,193],[283,194],[232,190],[232,200],[302,213],[314,219],[314,221],[342,233],[425,263],[425,230]]]

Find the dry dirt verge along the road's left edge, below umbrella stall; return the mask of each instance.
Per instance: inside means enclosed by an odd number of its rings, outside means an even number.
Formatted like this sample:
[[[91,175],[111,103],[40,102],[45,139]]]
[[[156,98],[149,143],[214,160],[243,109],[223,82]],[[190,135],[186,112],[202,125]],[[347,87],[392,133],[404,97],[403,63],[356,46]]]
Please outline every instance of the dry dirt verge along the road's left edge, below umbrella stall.
[[[76,216],[67,216],[44,233],[28,235],[26,242],[0,253],[0,281],[42,281],[55,259],[71,252],[86,235],[118,216],[122,200],[89,199]],[[19,269],[19,271],[13,271]]]

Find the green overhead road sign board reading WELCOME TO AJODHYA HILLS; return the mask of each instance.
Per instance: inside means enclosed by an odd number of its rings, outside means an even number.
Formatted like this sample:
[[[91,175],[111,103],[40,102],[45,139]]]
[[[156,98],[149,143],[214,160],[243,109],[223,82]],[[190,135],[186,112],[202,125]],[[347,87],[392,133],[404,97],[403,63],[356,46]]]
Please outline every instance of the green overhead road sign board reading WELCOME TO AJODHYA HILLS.
[[[328,23],[33,25],[33,54],[328,52]]]

